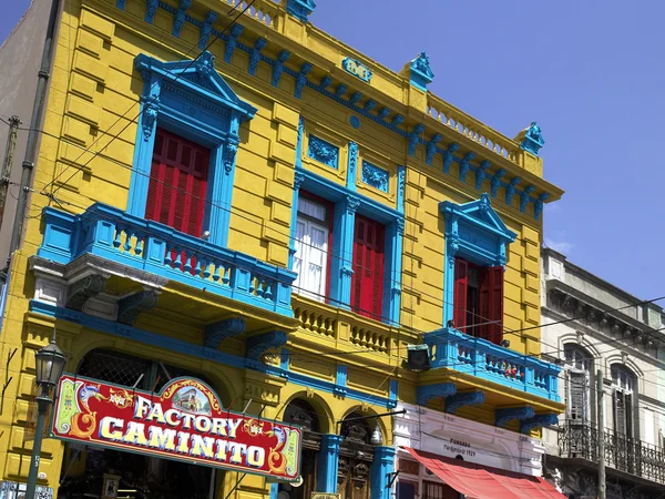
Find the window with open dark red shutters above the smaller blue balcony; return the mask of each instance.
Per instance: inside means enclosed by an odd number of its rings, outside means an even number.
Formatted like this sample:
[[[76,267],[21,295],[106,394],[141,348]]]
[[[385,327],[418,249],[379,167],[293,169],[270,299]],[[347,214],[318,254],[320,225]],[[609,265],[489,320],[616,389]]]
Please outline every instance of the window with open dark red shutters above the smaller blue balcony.
[[[503,267],[454,261],[454,327],[501,344],[503,339]]]

